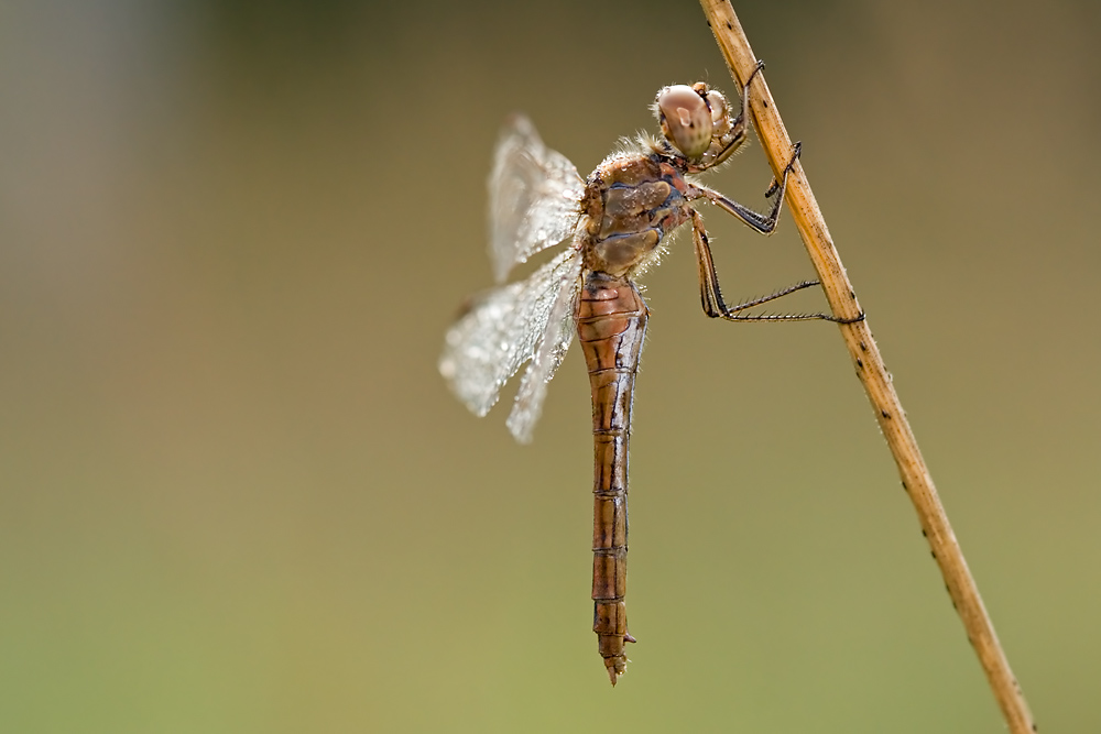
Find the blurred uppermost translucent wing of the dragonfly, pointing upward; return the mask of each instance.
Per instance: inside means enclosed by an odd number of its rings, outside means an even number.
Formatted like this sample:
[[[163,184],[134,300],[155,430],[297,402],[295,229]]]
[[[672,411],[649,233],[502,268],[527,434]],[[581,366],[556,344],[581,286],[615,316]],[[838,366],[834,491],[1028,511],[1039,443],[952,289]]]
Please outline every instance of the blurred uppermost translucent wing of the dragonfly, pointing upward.
[[[577,226],[585,182],[522,114],[505,122],[489,178],[489,256],[503,283],[516,263],[558,244]]]

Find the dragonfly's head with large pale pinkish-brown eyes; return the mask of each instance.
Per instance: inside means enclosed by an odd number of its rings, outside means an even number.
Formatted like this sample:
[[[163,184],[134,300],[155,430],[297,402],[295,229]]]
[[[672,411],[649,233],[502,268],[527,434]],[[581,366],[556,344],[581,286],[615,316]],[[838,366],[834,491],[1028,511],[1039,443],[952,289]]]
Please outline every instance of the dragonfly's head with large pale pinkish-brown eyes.
[[[654,114],[669,144],[699,171],[726,161],[741,139],[732,134],[734,123],[727,98],[702,81],[658,91]]]

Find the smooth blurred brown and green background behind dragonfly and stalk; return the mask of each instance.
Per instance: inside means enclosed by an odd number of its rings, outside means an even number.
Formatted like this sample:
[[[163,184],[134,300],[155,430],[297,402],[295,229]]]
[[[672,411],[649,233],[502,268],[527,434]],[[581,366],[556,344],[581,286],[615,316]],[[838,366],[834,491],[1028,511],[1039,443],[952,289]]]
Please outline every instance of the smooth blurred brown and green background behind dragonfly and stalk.
[[[1101,731],[1101,9],[738,11],[1040,731]],[[691,2],[0,4],[0,730],[1003,731],[833,327],[647,275],[614,690],[579,353],[531,447],[436,373],[505,114],[584,175],[700,78]],[[811,273],[705,215],[731,297]]]

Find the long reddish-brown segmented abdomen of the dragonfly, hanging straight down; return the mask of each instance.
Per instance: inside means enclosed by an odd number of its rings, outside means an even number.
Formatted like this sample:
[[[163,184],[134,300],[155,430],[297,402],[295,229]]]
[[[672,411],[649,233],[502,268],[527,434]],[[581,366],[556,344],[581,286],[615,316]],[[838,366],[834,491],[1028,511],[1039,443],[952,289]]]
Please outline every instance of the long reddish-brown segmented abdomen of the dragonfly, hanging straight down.
[[[592,390],[592,629],[615,684],[626,669],[628,449],[646,304],[624,277],[590,272],[577,305],[578,341]]]

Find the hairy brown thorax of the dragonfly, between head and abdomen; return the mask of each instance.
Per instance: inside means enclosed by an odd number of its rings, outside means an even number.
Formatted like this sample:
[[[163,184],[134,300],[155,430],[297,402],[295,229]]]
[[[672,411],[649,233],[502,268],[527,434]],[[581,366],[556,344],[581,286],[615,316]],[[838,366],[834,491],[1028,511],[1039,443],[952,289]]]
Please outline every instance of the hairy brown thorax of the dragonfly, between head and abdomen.
[[[622,277],[644,266],[690,215],[687,184],[658,154],[613,155],[586,182],[581,209],[585,266]]]

